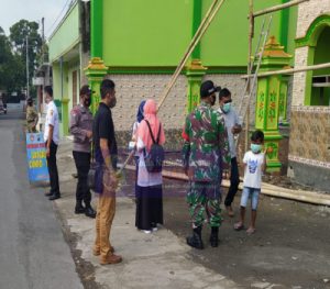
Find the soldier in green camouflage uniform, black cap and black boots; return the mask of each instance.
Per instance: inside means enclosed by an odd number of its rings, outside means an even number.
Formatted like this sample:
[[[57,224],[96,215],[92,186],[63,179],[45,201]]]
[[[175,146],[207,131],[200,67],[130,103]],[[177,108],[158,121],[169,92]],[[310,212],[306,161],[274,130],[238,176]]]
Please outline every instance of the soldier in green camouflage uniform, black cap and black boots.
[[[187,244],[204,248],[201,227],[205,213],[211,226],[210,244],[218,246],[221,224],[221,179],[223,168],[229,168],[230,154],[224,120],[212,110],[219,88],[212,81],[200,87],[201,102],[186,119],[183,132],[184,168],[189,177],[187,202],[193,222],[193,236]]]

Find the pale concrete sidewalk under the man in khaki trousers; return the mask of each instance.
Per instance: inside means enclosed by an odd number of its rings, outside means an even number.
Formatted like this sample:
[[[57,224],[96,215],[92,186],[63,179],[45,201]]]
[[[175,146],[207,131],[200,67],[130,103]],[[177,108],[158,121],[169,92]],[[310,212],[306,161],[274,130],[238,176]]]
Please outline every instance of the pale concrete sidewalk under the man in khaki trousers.
[[[239,288],[195,263],[188,254],[191,249],[166,227],[153,234],[139,232],[134,226],[135,204],[127,197],[118,198],[111,230],[111,243],[123,263],[100,266],[91,253],[95,220],[74,214],[77,180],[72,177],[76,168],[69,140],[61,143],[57,164],[63,198],[54,205],[86,288]]]

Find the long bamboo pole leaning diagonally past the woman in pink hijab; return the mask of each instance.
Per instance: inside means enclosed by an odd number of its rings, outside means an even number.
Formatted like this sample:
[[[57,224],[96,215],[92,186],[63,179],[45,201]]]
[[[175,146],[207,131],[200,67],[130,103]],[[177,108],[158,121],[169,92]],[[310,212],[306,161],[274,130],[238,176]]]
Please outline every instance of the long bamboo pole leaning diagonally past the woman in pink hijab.
[[[197,32],[195,33],[184,57],[182,58],[179,65],[177,66],[170,81],[168,82],[168,85],[166,86],[166,89],[164,91],[164,95],[158,103],[157,107],[157,111],[160,111],[160,109],[162,108],[165,99],[167,98],[170,89],[173,88],[175,81],[177,80],[178,76],[180,75],[182,70],[184,69],[186,62],[188,60],[188,58],[190,57],[191,53],[194,52],[195,47],[197,46],[198,42],[200,41],[200,38],[204,36],[204,34],[207,32],[209,25],[211,24],[212,20],[215,19],[215,16],[217,15],[218,11],[220,10],[220,8],[222,7],[224,0],[221,0],[219,2],[219,0],[215,0],[210,7],[210,9],[208,10],[208,12],[206,13],[202,22],[200,23]],[[130,153],[130,155],[128,156],[128,158],[125,159],[124,164],[122,165],[122,167],[120,168],[120,170],[118,171],[118,176],[121,176],[122,171],[124,170],[124,168],[127,167],[127,165],[129,164],[129,162],[131,160],[131,158],[134,156],[134,151],[132,151]]]

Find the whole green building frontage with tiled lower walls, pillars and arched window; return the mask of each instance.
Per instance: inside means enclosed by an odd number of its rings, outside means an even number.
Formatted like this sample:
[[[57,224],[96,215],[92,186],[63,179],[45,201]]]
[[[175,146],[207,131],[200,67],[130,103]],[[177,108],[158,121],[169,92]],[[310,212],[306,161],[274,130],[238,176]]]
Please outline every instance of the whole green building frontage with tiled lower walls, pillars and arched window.
[[[254,11],[288,0],[254,0]],[[62,134],[68,134],[68,113],[78,89],[89,82],[99,101],[99,84],[111,78],[118,104],[113,119],[121,144],[130,138],[139,103],[158,101],[212,0],[73,1],[50,38],[50,58]],[[299,16],[298,16],[299,11]],[[242,100],[248,64],[249,1],[227,0],[166,99],[160,118],[170,144],[178,144],[187,111],[199,101],[200,81],[212,79]],[[261,71],[329,63],[330,5],[310,0],[273,13]],[[266,16],[265,16],[266,18]],[[254,47],[263,16],[255,22]],[[286,146],[289,174],[299,181],[329,190],[330,70],[295,76],[261,77],[252,124],[266,133],[271,170],[278,170],[279,146]],[[290,124],[283,140],[278,122]],[[285,149],[284,149],[285,151]]]

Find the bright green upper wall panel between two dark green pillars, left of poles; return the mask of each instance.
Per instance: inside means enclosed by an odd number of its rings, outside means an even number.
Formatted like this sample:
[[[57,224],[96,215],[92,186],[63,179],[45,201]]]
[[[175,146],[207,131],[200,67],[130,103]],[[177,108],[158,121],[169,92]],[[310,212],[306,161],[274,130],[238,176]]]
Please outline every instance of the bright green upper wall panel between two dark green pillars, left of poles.
[[[103,60],[176,66],[190,38],[193,0],[105,0]]]

